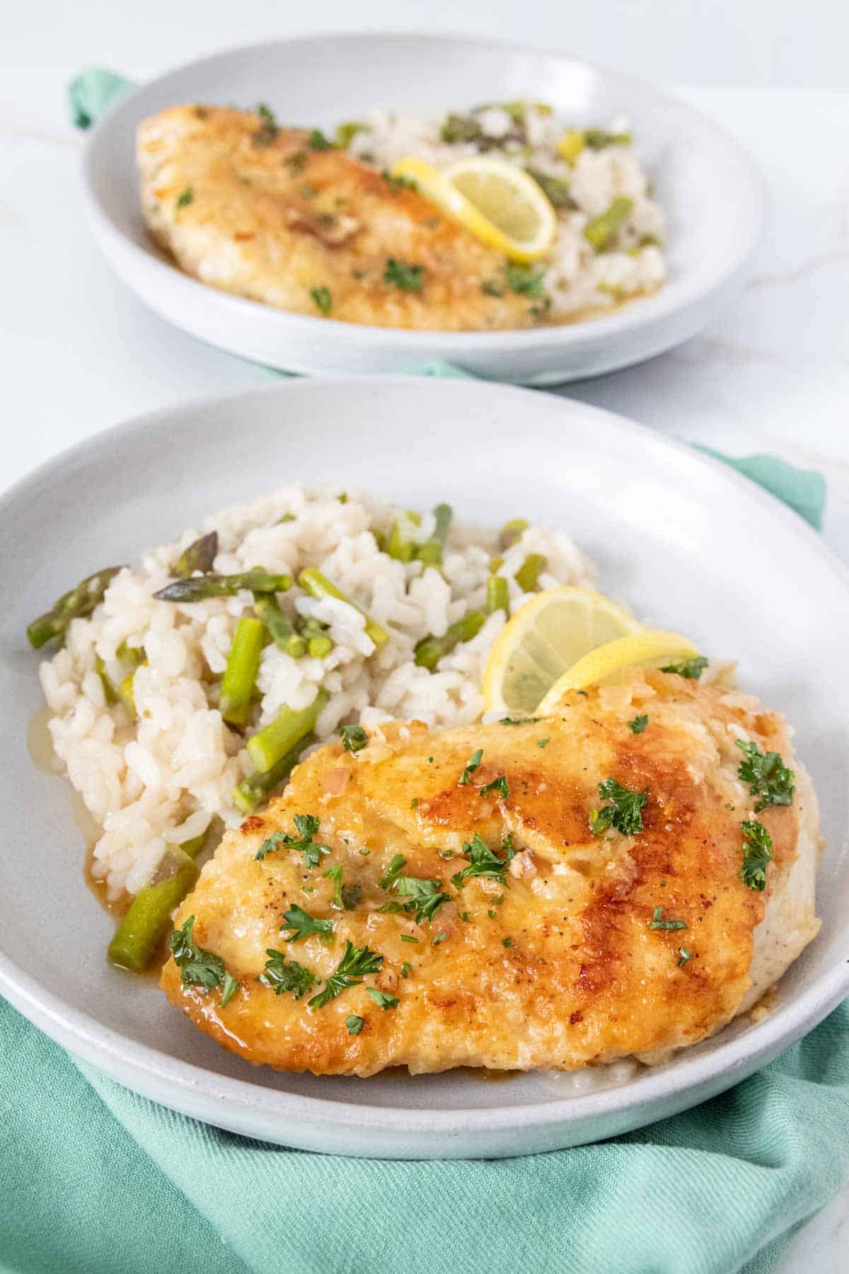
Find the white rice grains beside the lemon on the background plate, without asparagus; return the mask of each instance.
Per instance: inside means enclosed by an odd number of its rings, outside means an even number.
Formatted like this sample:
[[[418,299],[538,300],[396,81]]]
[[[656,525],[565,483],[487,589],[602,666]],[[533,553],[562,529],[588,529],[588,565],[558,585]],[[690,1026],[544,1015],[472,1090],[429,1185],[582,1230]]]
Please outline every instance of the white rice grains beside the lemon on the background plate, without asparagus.
[[[361,116],[349,153],[381,169],[403,155],[417,155],[435,168],[480,153],[495,153],[519,167],[536,168],[569,183],[578,205],[558,210],[558,236],[538,266],[551,306],[546,321],[568,321],[587,311],[608,310],[631,297],[654,292],[667,274],[663,241],[666,218],[650,197],[650,183],[633,145],[584,148],[574,166],[558,153],[565,125],[546,107],[524,108],[526,140],[510,140],[508,111],[489,107],[475,112],[485,140],[446,143],[442,118],[419,118],[374,110]],[[626,134],[628,120],[614,120],[611,134]],[[628,196],[633,208],[608,251],[596,252],[584,237],[587,223]]]

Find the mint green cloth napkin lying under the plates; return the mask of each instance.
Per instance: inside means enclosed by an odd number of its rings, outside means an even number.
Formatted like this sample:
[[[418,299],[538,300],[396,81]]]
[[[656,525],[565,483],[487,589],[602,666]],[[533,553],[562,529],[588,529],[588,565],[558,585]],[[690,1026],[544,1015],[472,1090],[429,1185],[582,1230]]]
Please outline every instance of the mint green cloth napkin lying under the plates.
[[[115,99],[116,78],[93,76],[73,90],[85,126]],[[821,475],[720,459],[820,526]],[[849,1001],[684,1115],[503,1161],[344,1159],[221,1133],[73,1061],[3,1000],[0,1075],[8,1274],[766,1274],[849,1173]]]

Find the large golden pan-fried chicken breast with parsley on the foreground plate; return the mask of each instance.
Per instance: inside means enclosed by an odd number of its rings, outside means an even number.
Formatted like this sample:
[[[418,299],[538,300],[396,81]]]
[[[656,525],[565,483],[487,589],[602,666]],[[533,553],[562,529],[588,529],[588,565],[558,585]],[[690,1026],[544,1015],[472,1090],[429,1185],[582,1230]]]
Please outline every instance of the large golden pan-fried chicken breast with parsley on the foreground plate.
[[[659,1060],[813,938],[816,860],[783,719],[635,674],[544,720],[392,722],[360,750],[316,752],[204,868],[176,916],[200,956],[178,943],[162,986],[281,1070]],[[209,953],[235,980],[225,1006],[192,985]]]

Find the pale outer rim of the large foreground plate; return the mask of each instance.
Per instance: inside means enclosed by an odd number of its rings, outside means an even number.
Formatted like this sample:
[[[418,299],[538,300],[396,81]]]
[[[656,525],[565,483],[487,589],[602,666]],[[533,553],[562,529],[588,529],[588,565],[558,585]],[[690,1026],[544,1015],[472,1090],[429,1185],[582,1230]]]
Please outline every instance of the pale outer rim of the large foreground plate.
[[[471,391],[481,395],[507,395],[517,397],[519,403],[528,403],[531,396],[536,396],[531,390],[499,382],[481,382],[471,378],[440,380],[398,373],[294,378],[227,394],[197,395],[117,422],[42,461],[0,494],[0,519],[3,519],[9,503],[24,497],[31,488],[60,473],[69,461],[85,459],[87,455],[93,459],[103,443],[116,445],[123,437],[136,437],[145,433],[151,426],[173,424],[187,412],[238,406],[246,399],[285,399],[286,395],[298,396],[300,394],[307,395],[307,397],[312,394],[321,395],[326,387],[325,381],[336,390],[341,382],[342,389],[347,385],[354,392],[363,392],[368,389],[379,391],[382,386],[392,385],[409,387],[417,394],[452,395],[458,391]],[[830,568],[849,600],[849,566],[825,544],[821,535],[798,513],[743,474],[682,440],[659,434],[616,412],[559,395],[546,395],[546,399],[550,405],[556,403],[558,410],[561,410],[564,415],[573,415],[575,422],[580,418],[603,422],[620,432],[639,437],[643,448],[650,448],[661,456],[672,452],[686,459],[696,471],[699,469],[713,471],[727,482],[738,496],[754,501],[769,511],[773,517],[785,522],[807,550],[816,553]],[[705,1055],[690,1057],[685,1055],[676,1060],[671,1069],[662,1068],[643,1075],[639,1082],[639,1093],[635,1093],[633,1085],[626,1083],[596,1093],[552,1097],[551,1101],[546,1102],[509,1107],[456,1106],[447,1110],[342,1102],[335,1098],[255,1085],[249,1078],[218,1075],[195,1063],[164,1054],[151,1045],[127,1040],[113,1028],[99,1023],[92,1014],[67,1005],[59,995],[41,986],[37,978],[25,973],[3,949],[0,949],[0,994],[57,1043],[67,1047],[73,1054],[85,1057],[97,1069],[104,1070],[118,1083],[123,1083],[125,1087],[130,1087],[135,1092],[141,1089],[134,1082],[127,1083],[118,1079],[116,1071],[120,1071],[121,1068],[129,1066],[151,1080],[167,1078],[174,1091],[179,1091],[187,1097],[192,1093],[195,1097],[206,1093],[207,1099],[211,1099],[211,1091],[215,1089],[218,1096],[227,1096],[230,1105],[246,1116],[265,1112],[274,1120],[290,1117],[300,1124],[321,1121],[331,1135],[333,1131],[342,1133],[345,1130],[370,1131],[384,1138],[402,1133],[417,1134],[425,1130],[509,1134],[519,1133],[523,1129],[530,1133],[541,1131],[546,1127],[578,1124],[605,1115],[622,1115],[629,1110],[633,1110],[634,1115],[638,1116],[631,1125],[636,1126],[642,1119],[639,1116],[642,1107],[652,1107],[657,1101],[672,1098],[682,1099],[678,1106],[682,1108],[686,1106],[686,1097],[690,1092],[698,1094],[700,1088],[710,1083],[715,1085],[717,1080],[719,1080],[720,1087],[723,1084],[726,1088],[731,1087],[757,1069],[762,1059],[769,1059],[789,1047],[817,1026],[840,1000],[849,995],[849,961],[839,959],[834,967],[821,972],[811,986],[785,1004],[779,1005],[762,1022],[752,1024],[743,1034],[729,1038],[724,1045]],[[101,1059],[107,1055],[111,1060],[113,1059],[115,1064],[111,1066],[98,1065],[94,1054],[98,1054]],[[356,1077],[350,1078],[356,1079]],[[724,1083],[726,1080],[727,1083]],[[630,1099],[629,1093],[631,1094]],[[153,1099],[163,1103],[159,1096]],[[695,1097],[696,1102],[700,1099],[699,1096]],[[177,1103],[174,1108],[179,1110],[181,1107]],[[195,1115],[193,1117],[215,1122],[215,1119],[207,1116]],[[648,1121],[653,1117],[650,1116]],[[290,1138],[289,1143],[298,1144],[298,1139]]]

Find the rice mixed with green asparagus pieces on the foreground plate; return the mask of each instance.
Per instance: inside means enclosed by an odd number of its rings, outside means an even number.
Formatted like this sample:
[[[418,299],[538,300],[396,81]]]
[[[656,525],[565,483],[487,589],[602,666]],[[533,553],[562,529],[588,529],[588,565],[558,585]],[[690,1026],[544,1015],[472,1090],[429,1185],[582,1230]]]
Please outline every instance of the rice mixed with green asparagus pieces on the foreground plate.
[[[29,636],[64,642],[41,682],[55,753],[102,828],[93,877],[111,899],[137,894],[341,726],[355,740],[393,717],[476,720],[507,615],[592,577],[560,531],[302,485],[90,577]]]

